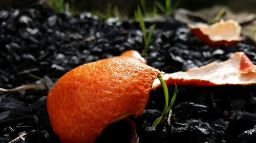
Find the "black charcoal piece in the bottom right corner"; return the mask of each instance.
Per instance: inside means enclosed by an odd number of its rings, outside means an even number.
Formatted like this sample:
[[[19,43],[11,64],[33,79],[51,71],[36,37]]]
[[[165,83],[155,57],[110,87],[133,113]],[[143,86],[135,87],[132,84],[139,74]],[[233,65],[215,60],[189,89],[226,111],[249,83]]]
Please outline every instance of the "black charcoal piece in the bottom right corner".
[[[237,143],[254,143],[256,142],[256,129],[249,129],[241,133],[234,142]]]

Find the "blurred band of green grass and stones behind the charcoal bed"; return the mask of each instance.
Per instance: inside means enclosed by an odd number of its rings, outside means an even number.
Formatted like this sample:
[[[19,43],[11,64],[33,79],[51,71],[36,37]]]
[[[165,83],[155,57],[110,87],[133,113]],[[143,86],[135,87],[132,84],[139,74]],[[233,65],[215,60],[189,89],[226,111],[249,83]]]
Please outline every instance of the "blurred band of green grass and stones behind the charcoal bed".
[[[133,19],[135,11],[139,6],[144,17],[155,17],[159,15],[170,15],[175,9],[184,8],[200,13],[209,19],[214,19],[218,14],[223,19],[234,19],[241,21],[249,20],[243,25],[243,33],[256,39],[256,1],[255,0],[2,0],[0,8],[26,7],[32,2],[44,3],[47,7],[57,12],[65,12],[71,15],[81,12],[92,12],[102,19],[109,17]],[[169,2],[169,8],[166,7]],[[219,17],[220,18],[220,17]],[[136,19],[136,17],[135,17]]]

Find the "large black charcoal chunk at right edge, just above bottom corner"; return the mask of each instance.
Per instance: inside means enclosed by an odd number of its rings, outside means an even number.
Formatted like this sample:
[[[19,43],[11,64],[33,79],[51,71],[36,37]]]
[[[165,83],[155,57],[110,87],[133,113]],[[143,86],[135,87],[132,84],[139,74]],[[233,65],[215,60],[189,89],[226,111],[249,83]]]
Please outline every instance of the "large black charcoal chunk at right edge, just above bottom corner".
[[[230,111],[227,119],[229,121],[227,131],[232,137],[236,137],[256,125],[256,115],[245,111]]]

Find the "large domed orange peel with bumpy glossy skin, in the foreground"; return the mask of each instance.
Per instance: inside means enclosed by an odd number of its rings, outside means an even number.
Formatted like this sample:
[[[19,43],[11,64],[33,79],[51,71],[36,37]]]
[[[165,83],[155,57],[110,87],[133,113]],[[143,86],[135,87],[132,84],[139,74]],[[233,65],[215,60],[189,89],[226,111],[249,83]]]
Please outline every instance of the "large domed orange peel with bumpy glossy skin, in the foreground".
[[[110,123],[142,113],[158,73],[120,56],[69,71],[47,97],[54,131],[61,142],[94,142]]]

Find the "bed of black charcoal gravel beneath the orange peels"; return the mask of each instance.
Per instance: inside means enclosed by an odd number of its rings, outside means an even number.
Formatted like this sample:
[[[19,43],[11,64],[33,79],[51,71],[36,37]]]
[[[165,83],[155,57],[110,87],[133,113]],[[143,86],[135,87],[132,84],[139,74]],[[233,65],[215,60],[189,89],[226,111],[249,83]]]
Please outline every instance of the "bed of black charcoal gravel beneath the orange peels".
[[[176,15],[177,16],[177,15]],[[167,73],[221,62],[244,51],[256,64],[256,44],[245,40],[213,47],[198,40],[188,27],[172,18],[156,23],[147,64]],[[54,82],[78,65],[143,50],[138,22],[91,13],[68,16],[40,4],[0,11],[0,87],[44,83],[47,89],[0,92],[0,142],[59,142],[46,110],[47,93]],[[151,127],[161,115],[161,88],[151,92],[146,112],[132,119],[141,142],[256,142],[255,85],[178,86],[170,124]],[[174,91],[174,87],[169,86]],[[229,115],[228,115],[229,114]],[[108,126],[96,142],[130,142],[127,121]]]

